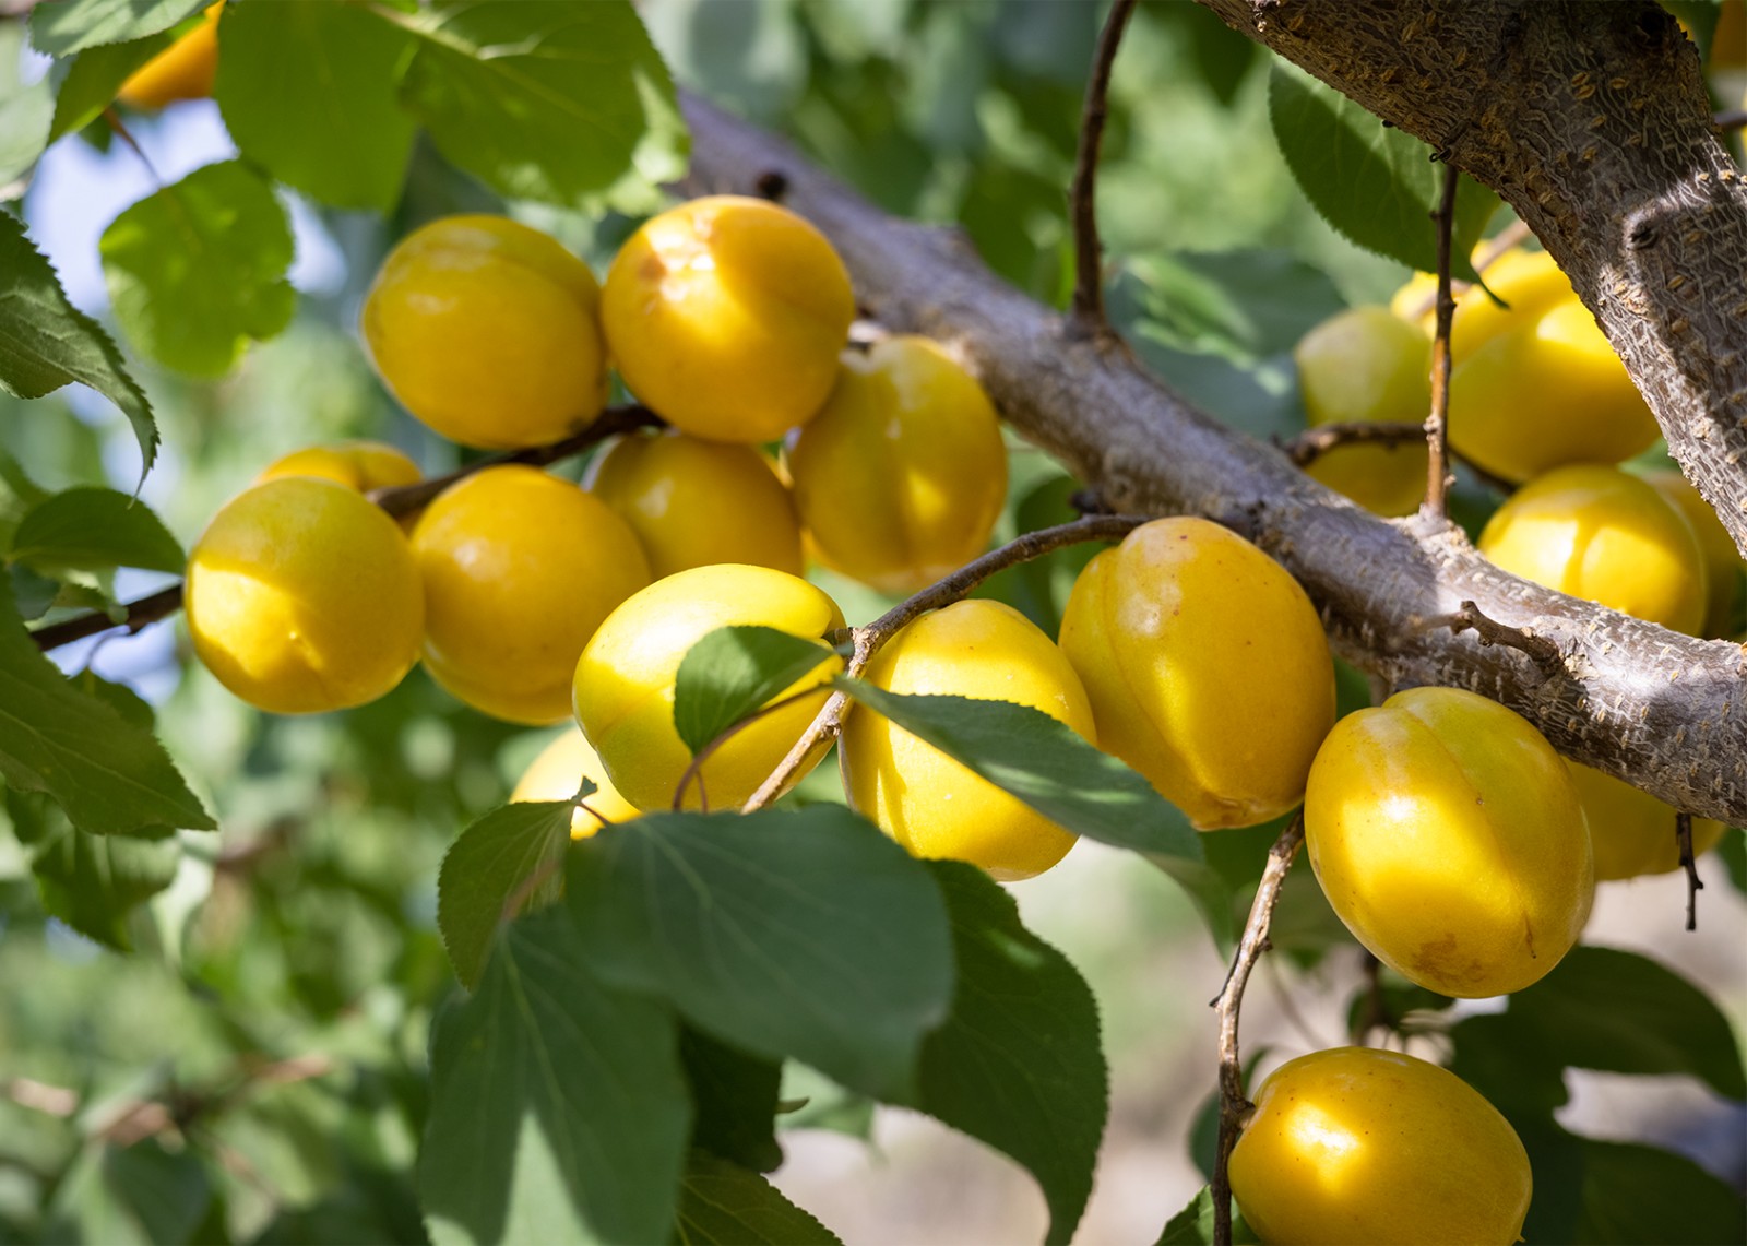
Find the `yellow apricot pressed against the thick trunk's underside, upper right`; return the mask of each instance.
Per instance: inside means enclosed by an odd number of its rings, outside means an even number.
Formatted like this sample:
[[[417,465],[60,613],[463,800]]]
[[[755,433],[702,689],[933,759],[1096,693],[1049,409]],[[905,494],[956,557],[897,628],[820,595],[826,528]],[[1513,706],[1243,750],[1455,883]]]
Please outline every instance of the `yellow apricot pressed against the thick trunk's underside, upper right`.
[[[1647,449],[1656,418],[1553,257],[1506,255],[1485,278],[1509,308],[1478,287],[1457,301],[1450,446],[1508,481]]]

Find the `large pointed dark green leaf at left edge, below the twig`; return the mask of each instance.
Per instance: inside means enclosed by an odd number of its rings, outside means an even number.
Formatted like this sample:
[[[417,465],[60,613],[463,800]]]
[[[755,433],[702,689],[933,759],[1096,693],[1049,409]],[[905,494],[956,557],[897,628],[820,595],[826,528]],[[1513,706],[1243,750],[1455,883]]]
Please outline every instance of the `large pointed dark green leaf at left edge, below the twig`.
[[[142,827],[210,830],[150,729],[84,696],[37,648],[0,578],[0,776],[21,792],[47,792],[80,830]]]

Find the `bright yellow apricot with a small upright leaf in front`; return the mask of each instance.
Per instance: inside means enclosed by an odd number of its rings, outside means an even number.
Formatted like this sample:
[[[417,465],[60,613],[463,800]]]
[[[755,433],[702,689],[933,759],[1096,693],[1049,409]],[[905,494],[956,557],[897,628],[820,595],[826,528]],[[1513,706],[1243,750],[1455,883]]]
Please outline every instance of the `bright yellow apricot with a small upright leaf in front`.
[[[825,636],[844,626],[837,603],[805,580],[767,566],[718,563],[669,575],[601,624],[577,662],[577,722],[601,764],[638,809],[666,809],[692,760],[673,725],[673,685],[687,650],[718,627],[777,627]],[[835,654],[772,701],[823,683],[842,668]],[[702,765],[711,809],[746,800],[800,739],[826,690],[758,718]],[[821,750],[823,753],[823,750]],[[818,760],[818,758],[814,758]],[[697,783],[688,809],[704,804]]]

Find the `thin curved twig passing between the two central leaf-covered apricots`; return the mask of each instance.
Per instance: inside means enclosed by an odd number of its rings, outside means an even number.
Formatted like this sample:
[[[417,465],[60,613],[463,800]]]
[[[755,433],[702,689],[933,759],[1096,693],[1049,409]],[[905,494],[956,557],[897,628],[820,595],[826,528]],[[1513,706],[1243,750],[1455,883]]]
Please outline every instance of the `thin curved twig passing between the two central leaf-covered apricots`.
[[[1074,519],[1073,523],[1059,524],[1055,528],[1039,528],[1038,531],[1010,540],[999,549],[989,550],[977,561],[966,563],[952,575],[929,584],[914,598],[900,601],[865,627],[851,627],[849,640],[853,643],[853,650],[849,654],[849,664],[844,668],[844,675],[851,678],[861,675],[868,668],[868,662],[874,661],[880,645],[898,634],[905,624],[919,619],[929,610],[952,605],[996,571],[1005,571],[1019,563],[1029,563],[1034,557],[1043,557],[1045,554],[1062,549],[1064,545],[1078,545],[1087,540],[1120,540],[1141,524],[1148,523],[1148,519],[1150,516],[1085,516],[1083,519]],[[826,697],[819,713],[814,715],[812,723],[802,737],[795,741],[795,746],[788,750],[788,755],[777,764],[777,767],[770,771],[770,776],[758,785],[758,790],[748,797],[746,804],[741,806],[741,813],[756,813],[783,795],[800,774],[807,758],[812,757],[812,751],[825,741],[835,739],[844,729],[844,710],[847,706],[849,697],[842,692],[833,692]]]

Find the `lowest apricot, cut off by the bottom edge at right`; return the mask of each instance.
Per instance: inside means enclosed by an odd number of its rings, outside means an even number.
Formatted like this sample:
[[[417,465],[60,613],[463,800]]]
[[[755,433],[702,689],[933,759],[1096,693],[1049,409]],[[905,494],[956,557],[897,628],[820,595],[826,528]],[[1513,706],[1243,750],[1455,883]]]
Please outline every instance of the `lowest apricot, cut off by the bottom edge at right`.
[[[1232,1152],[1263,1243],[1511,1246],[1534,1178],[1509,1122],[1448,1069],[1370,1047],[1288,1061]]]

